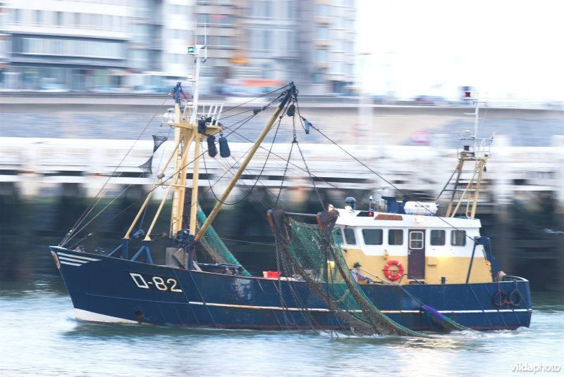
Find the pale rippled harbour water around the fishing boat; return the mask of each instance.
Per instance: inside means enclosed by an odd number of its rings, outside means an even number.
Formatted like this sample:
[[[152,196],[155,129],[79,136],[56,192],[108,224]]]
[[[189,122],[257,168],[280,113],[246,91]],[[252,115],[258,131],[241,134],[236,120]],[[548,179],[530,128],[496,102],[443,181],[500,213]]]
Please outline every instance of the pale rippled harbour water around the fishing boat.
[[[531,328],[421,340],[91,324],[58,278],[1,283],[0,376],[564,375],[564,298],[533,301]]]

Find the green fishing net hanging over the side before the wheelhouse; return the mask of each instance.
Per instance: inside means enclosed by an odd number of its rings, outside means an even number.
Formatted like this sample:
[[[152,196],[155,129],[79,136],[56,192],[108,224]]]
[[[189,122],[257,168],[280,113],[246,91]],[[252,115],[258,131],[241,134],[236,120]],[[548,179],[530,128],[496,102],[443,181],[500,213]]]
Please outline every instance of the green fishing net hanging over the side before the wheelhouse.
[[[374,306],[362,291],[341,253],[333,226],[338,215],[321,212],[319,224],[307,224],[272,210],[276,247],[293,271],[324,301],[327,308],[356,332],[429,338],[393,321]]]

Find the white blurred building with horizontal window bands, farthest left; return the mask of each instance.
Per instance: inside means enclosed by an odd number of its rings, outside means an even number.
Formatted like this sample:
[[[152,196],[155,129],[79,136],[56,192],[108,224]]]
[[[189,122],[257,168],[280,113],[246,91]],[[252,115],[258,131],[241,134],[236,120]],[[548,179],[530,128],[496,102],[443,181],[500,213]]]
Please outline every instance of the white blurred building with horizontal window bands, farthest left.
[[[128,68],[128,0],[5,1],[8,89],[90,89],[119,85]]]

